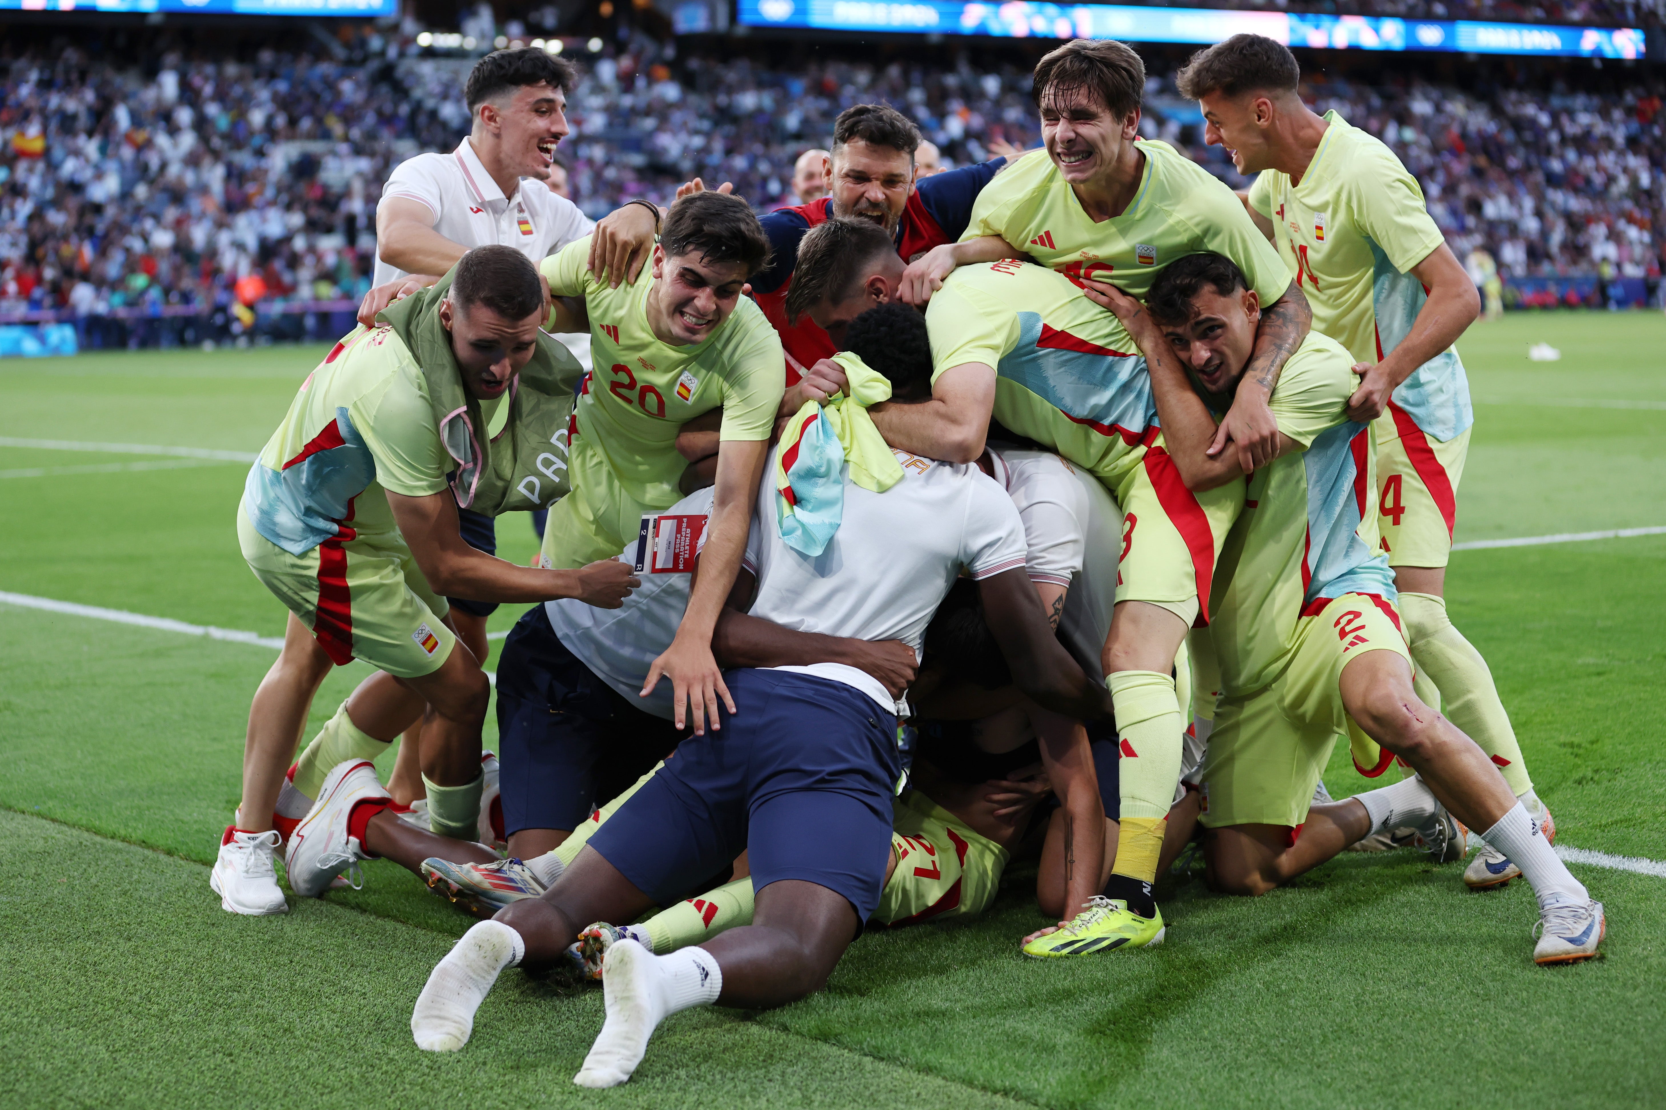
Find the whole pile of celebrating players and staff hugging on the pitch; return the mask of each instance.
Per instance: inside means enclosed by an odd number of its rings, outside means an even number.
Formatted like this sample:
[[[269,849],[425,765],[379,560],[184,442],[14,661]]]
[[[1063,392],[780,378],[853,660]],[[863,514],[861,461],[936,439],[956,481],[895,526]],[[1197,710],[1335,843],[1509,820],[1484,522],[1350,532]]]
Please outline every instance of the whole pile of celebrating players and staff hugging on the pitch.
[[[1441,597],[1474,288],[1289,50],[1238,35],[1180,75],[1246,196],[1138,138],[1140,57],[1078,40],[1011,165],[916,181],[913,123],[858,105],[825,200],[760,218],[693,181],[563,245],[570,80],[476,67],[473,133],[383,193],[393,280],[250,471],[242,549],[292,616],[227,910],[287,909],[280,852],[297,895],[392,859],[493,914],[416,1043],[570,960],[606,995],[590,1087],[676,1010],[816,990],[866,924],[981,912],[1018,852],[1058,919],[1025,955],[1160,944],[1153,882],[1200,825],[1230,894],[1389,830],[1461,859],[1468,827],[1464,882],[1538,894],[1538,962],[1596,954]],[[551,334],[583,331],[588,369]],[[490,554],[491,518],[545,509],[538,566]],[[495,602],[541,602],[496,756]],[[352,659],[377,672],[295,757]],[[1344,736],[1414,774],[1331,800]]]

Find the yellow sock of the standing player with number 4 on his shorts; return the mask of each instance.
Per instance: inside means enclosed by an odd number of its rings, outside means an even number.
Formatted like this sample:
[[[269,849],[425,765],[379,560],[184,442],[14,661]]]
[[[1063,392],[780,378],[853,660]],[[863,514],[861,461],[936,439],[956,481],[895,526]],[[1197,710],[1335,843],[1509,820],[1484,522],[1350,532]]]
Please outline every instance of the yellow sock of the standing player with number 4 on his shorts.
[[[1411,659],[1441,692],[1441,712],[1493,757],[1516,797],[1528,794],[1533,779],[1504,702],[1498,699],[1493,672],[1481,652],[1453,627],[1446,599],[1403,592],[1399,612],[1406,619]]]

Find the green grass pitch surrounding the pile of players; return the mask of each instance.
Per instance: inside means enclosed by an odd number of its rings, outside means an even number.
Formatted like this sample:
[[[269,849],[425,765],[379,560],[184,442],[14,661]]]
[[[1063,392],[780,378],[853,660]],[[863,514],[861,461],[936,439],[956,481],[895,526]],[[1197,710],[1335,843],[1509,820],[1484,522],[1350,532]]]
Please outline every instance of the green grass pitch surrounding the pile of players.
[[[1461,349],[1478,424],[1458,539],[1666,524],[1658,315],[1511,316]],[[1526,361],[1534,341],[1556,364]],[[320,349],[0,364],[0,436],[257,451]],[[145,456],[0,448],[0,473]],[[282,634],[237,554],[240,464],[0,478],[0,589]],[[533,551],[523,518],[506,556]],[[1666,859],[1666,538],[1454,556],[1448,597],[1486,654],[1561,840]],[[516,612],[500,611],[506,629]],[[863,937],[825,994],[673,1018],[638,1077],[568,1087],[596,992],[508,972],[465,1053],[410,1043],[410,1003],[466,920],[388,864],[363,892],[233,919],[208,892],[272,652],[0,606],[0,1105],[1641,1105],[1666,1078],[1666,885],[1576,867],[1616,932],[1534,969],[1523,884],[1346,855],[1266,899],[1163,890],[1163,949],[1035,964],[1015,870],[988,917]],[[363,674],[328,679],[313,726]],[[488,726],[488,744],[491,737]],[[1364,789],[1339,751],[1333,794]],[[48,820],[50,819],[50,820]],[[238,1048],[228,1050],[228,1045]],[[248,1045],[248,1048],[242,1048]],[[280,1047],[273,1052],[272,1047]],[[480,1077],[491,1077],[481,1082]]]

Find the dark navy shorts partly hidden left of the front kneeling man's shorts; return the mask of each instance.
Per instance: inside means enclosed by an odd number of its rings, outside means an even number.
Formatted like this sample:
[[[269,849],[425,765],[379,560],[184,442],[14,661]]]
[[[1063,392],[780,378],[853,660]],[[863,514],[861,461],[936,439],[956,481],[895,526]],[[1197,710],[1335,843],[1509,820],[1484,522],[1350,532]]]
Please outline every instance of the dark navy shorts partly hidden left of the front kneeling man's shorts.
[[[630,704],[573,656],[543,606],[503,641],[496,702],[505,834],[576,829],[678,741],[670,721]]]

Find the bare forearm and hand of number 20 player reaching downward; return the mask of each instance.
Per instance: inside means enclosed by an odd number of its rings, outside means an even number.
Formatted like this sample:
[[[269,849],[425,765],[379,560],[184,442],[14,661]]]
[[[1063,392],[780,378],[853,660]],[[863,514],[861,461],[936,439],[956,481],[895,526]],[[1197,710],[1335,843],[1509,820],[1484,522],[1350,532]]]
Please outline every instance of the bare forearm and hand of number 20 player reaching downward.
[[[706,719],[718,724],[718,697],[735,712],[735,701],[723,672],[711,654],[711,634],[718,614],[740,574],[740,561],[746,551],[746,534],[751,529],[753,501],[763,479],[763,463],[770,453],[765,439],[726,439],[718,449],[716,489],[711,501],[711,518],[706,526],[706,546],[700,553],[701,572],[688,596],[683,622],[676,626],[676,639],[648,667],[643,692],[651,691],[661,676],[671,679],[671,714],[678,729],[691,716],[695,736],[705,736]],[[685,712],[685,697],[686,709]]]

